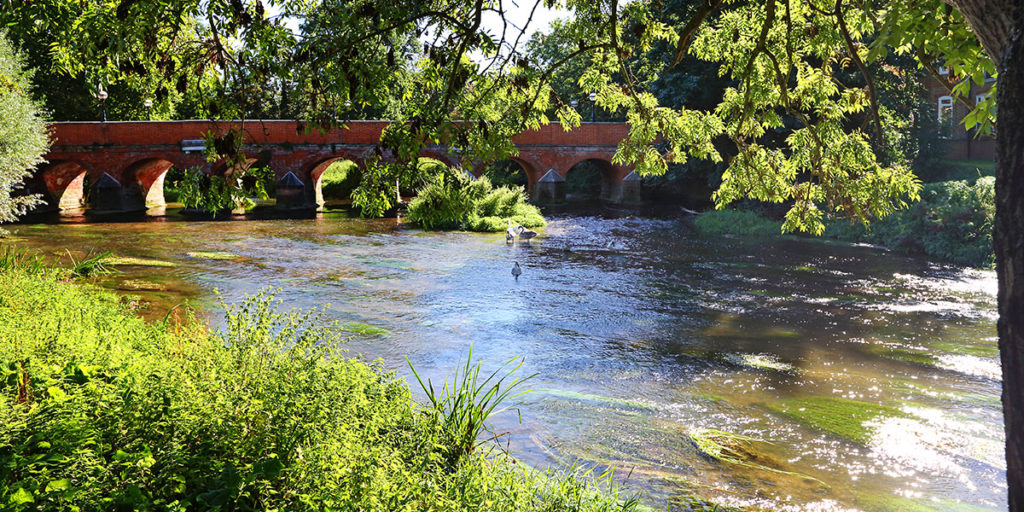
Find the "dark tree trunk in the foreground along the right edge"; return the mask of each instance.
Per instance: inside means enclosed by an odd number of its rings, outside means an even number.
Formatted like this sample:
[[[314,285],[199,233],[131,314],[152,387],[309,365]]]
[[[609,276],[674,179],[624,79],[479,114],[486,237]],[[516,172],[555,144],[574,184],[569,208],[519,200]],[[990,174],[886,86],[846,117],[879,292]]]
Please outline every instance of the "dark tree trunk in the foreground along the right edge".
[[[1024,27],[1020,8],[999,66],[995,271],[1011,512],[1024,512]]]

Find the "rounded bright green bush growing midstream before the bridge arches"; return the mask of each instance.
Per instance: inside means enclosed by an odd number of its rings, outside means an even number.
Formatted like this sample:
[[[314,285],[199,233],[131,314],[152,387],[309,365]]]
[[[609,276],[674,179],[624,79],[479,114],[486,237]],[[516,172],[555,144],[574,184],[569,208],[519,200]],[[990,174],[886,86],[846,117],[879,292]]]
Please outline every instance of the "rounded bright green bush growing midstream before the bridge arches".
[[[508,219],[525,227],[547,224],[522,187],[495,188],[485,176],[473,179],[463,172],[441,175],[421,189],[409,205],[409,218],[427,229],[472,231],[503,231]]]

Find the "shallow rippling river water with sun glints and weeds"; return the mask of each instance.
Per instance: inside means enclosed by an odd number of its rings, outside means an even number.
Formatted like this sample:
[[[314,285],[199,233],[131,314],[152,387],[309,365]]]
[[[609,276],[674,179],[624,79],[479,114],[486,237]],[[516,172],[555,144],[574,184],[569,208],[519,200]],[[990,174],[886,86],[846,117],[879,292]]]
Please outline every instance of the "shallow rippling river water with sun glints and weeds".
[[[694,496],[752,510],[1006,509],[989,271],[703,238],[685,217],[628,212],[556,213],[515,245],[340,213],[82,220],[10,226],[11,240],[177,264],[101,281],[155,317],[189,299],[216,325],[215,291],[230,302],[279,287],[286,305],[325,306],[360,332],[353,354],[407,377],[406,357],[443,379],[470,344],[487,369],[524,357],[522,375],[538,375],[515,400],[521,423],[495,419],[502,442],[532,466],[616,468],[662,509]],[[740,464],[718,461],[697,447],[709,428],[760,441],[728,441]]]

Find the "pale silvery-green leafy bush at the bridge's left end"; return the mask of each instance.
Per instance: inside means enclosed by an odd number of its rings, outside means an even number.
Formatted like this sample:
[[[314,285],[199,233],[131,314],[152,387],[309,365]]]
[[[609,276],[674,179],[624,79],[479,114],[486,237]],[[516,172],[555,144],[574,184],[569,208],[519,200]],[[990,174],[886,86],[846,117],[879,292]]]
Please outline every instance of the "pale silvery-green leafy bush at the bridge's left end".
[[[31,77],[0,31],[0,222],[17,220],[41,203],[36,196],[16,191],[43,162],[50,142],[46,119],[31,94]]]

